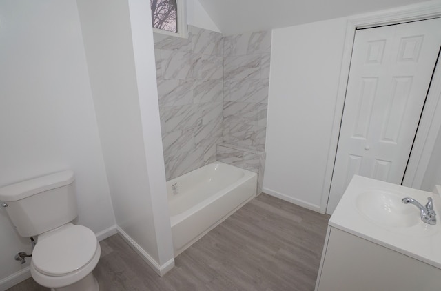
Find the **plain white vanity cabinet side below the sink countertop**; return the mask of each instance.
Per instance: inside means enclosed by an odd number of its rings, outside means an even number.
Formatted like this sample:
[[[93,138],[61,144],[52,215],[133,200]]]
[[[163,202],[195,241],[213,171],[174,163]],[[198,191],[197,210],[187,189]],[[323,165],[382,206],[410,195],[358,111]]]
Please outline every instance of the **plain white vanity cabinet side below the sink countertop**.
[[[329,226],[316,291],[383,290],[441,290],[441,270]]]

